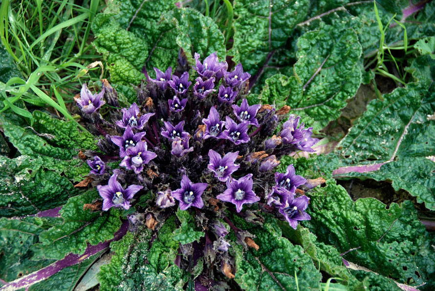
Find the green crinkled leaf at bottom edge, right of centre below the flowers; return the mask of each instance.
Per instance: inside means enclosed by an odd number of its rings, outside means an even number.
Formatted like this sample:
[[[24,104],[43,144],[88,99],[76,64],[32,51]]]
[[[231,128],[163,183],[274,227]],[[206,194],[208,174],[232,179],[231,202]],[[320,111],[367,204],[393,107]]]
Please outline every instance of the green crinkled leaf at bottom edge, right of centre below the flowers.
[[[294,246],[282,237],[277,221],[266,217],[263,228],[252,228],[258,251],[248,249],[244,253],[241,246],[233,243],[236,249],[235,281],[243,290],[297,290],[319,286],[322,275],[316,270],[313,261],[301,246]]]

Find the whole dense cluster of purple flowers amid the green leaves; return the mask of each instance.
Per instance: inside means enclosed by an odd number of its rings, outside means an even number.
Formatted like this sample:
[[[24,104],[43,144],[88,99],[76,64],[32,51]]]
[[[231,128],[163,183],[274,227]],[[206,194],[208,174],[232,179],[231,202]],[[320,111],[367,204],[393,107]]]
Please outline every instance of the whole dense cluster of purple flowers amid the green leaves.
[[[285,218],[296,229],[298,221],[310,219],[304,189],[315,185],[296,175],[292,165],[285,173],[275,173],[275,167],[285,154],[313,151],[318,140],[311,137],[312,128],[288,115],[289,108],[249,105],[250,74],[241,64],[229,72],[216,53],[203,62],[199,58],[195,54],[198,77],[193,86],[186,71],[154,68],[155,79],[145,72],[147,80],[135,87],[137,104],[110,109],[105,118],[99,112],[103,98],[119,107],[116,91],[105,80],[103,91],[95,95],[83,85],[76,102],[89,130],[103,135],[98,142],[103,154],[87,153],[93,157],[87,163],[103,198],[102,209],[129,209],[137,200],[133,198],[147,191],[155,193],[151,206],[136,210],[157,220],[174,213],[175,200],[181,210],[202,209],[193,214],[200,216],[198,225],[211,222],[204,229],[214,233],[220,252],[229,246],[223,239],[228,233],[222,224],[225,211],[239,213],[246,204],[258,203],[254,209]],[[111,175],[109,160],[121,161]],[[137,223],[135,215],[132,224]]]

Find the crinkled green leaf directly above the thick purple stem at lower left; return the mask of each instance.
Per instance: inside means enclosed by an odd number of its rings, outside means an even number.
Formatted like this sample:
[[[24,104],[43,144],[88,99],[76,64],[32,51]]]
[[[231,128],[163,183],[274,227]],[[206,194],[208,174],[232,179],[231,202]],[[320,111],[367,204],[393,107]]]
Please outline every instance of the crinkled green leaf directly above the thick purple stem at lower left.
[[[119,210],[112,208],[107,212],[91,212],[83,209],[84,204],[92,203],[99,197],[96,189],[93,189],[70,198],[60,211],[63,223],[56,224],[39,235],[40,243],[33,248],[34,259],[59,260],[70,252],[84,253],[87,243],[95,246],[112,239],[121,226]]]

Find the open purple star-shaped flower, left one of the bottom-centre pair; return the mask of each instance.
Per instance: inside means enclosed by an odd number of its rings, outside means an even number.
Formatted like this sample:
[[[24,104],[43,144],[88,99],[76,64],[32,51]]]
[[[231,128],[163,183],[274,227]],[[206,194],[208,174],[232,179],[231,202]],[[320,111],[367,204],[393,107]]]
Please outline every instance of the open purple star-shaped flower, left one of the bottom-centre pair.
[[[194,184],[186,175],[183,175],[181,188],[172,191],[172,196],[180,202],[181,210],[186,210],[191,206],[202,208],[204,202],[202,201],[201,195],[207,186],[207,183]]]

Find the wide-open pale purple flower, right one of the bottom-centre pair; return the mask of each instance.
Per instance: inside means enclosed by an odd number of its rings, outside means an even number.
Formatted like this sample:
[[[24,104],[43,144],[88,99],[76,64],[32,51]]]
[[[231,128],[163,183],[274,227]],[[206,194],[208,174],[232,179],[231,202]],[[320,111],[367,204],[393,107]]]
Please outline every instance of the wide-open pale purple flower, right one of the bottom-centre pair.
[[[260,197],[252,191],[252,174],[247,174],[239,180],[228,179],[227,189],[216,196],[221,201],[231,202],[236,205],[237,212],[241,211],[243,204],[260,201]]]

